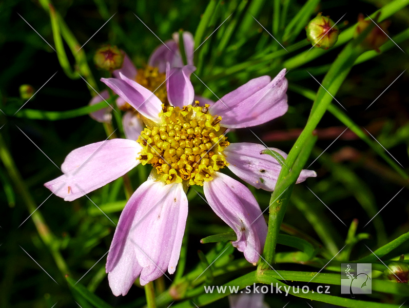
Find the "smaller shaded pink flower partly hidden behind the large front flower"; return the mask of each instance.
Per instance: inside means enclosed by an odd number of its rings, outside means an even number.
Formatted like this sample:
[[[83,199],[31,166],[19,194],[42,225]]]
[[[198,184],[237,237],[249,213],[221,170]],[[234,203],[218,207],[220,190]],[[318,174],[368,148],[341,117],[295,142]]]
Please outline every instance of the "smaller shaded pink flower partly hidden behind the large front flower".
[[[148,83],[148,88],[151,91],[157,90],[165,80],[166,63],[170,67],[182,67],[182,56],[179,50],[179,33],[175,32],[172,35],[173,39],[166,41],[165,45],[158,46],[150,55],[148,66],[142,69],[137,69],[130,57],[124,52],[124,62],[120,69],[112,72],[114,78],[120,78],[120,73],[127,78],[135,80],[139,83]],[[189,32],[183,33],[183,42],[186,52],[186,58],[189,65],[193,65],[193,36]],[[166,90],[165,88],[163,89]],[[157,91],[158,92],[158,91]],[[166,93],[165,93],[166,94]],[[101,95],[101,96],[100,96]],[[109,98],[108,90],[101,91],[100,95],[96,95],[89,102],[89,105],[94,105]],[[124,101],[121,97],[116,100],[116,105],[125,111],[122,118],[122,126],[124,128],[125,137],[131,140],[137,140],[139,134],[144,129],[144,123],[138,116],[138,113]],[[107,107],[101,110],[90,113],[90,117],[101,123],[110,123],[112,121],[112,108]]]

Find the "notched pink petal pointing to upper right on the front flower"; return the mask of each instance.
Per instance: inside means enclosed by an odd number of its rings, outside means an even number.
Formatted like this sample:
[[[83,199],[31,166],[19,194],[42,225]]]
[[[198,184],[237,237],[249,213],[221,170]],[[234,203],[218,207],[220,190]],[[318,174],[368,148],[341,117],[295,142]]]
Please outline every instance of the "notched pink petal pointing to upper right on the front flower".
[[[242,128],[266,123],[283,115],[287,109],[287,80],[283,69],[270,82],[269,76],[255,78],[224,95],[209,112],[220,115],[220,125]]]

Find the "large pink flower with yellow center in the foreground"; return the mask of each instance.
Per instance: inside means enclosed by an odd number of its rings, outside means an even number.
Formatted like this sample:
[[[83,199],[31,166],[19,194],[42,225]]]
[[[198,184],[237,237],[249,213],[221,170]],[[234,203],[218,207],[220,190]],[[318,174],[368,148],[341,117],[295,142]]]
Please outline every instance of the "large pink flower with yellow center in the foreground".
[[[45,184],[65,200],[74,200],[124,175],[139,163],[152,172],[122,211],[108,253],[106,271],[114,295],[172,274],[179,260],[187,217],[186,191],[201,185],[210,207],[237,235],[232,244],[256,263],[267,235],[261,209],[250,190],[220,172],[230,168],[258,188],[274,189],[278,162],[260,155],[262,146],[230,144],[227,128],[263,124],[287,110],[287,81],[262,76],[224,95],[211,107],[193,105],[190,74],[194,67],[166,66],[165,105],[150,90],[129,79],[102,79],[145,120],[137,141],[113,139],[73,150],[62,165],[64,175]],[[285,155],[285,153],[282,153]],[[315,176],[303,170],[299,182]]]

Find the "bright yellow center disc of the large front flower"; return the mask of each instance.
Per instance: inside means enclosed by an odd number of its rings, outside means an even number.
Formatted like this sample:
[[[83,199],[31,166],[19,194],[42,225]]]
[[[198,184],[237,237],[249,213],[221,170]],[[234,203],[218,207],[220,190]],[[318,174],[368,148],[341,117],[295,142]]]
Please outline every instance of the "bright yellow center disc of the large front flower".
[[[159,114],[161,124],[146,127],[137,142],[142,146],[139,159],[152,164],[167,184],[186,181],[201,185],[212,180],[213,172],[228,165],[223,149],[229,145],[220,128],[221,117],[207,113],[209,105],[166,107]]]

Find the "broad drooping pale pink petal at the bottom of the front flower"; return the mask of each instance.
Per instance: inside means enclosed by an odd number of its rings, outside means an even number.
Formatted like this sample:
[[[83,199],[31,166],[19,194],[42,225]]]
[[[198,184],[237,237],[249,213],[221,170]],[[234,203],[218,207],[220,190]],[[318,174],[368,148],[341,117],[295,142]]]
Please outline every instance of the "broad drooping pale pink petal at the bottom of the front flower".
[[[142,266],[142,285],[172,274],[178,264],[187,219],[187,198],[182,184],[143,183],[126,204],[107,258],[107,272],[130,256]],[[125,242],[133,253],[124,255]],[[118,243],[118,245],[114,245]],[[113,246],[114,245],[114,246]]]

